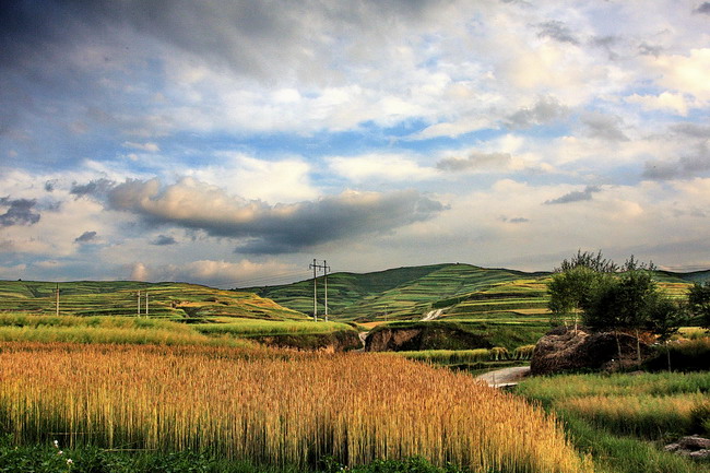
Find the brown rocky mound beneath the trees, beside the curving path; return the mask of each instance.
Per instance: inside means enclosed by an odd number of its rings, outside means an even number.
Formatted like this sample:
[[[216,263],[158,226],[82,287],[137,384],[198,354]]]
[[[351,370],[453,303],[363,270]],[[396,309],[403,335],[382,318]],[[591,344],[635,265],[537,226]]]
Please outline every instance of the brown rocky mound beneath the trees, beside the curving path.
[[[618,356],[618,346],[622,357]],[[641,343],[641,358],[650,354]],[[552,375],[579,370],[615,370],[637,363],[637,339],[626,333],[592,332],[560,327],[548,332],[535,345],[530,362],[532,375]]]

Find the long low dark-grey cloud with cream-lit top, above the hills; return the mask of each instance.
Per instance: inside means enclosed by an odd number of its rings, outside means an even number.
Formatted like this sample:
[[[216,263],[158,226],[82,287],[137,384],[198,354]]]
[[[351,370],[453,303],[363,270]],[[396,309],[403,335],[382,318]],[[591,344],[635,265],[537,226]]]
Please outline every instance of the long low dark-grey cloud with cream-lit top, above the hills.
[[[318,244],[391,232],[426,221],[446,208],[415,190],[346,191],[317,201],[269,205],[228,196],[192,179],[163,187],[157,179],[127,180],[108,194],[109,209],[139,215],[147,225],[201,229],[245,239],[240,252],[280,253]]]

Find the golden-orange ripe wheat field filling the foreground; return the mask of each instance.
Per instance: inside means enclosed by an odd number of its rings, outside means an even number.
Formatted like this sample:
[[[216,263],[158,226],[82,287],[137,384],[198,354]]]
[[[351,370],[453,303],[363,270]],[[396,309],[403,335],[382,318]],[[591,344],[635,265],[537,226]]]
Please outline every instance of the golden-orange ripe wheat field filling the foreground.
[[[419,456],[486,472],[592,469],[542,409],[374,354],[2,343],[0,424],[19,441],[51,434],[269,464]]]

